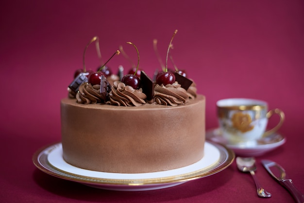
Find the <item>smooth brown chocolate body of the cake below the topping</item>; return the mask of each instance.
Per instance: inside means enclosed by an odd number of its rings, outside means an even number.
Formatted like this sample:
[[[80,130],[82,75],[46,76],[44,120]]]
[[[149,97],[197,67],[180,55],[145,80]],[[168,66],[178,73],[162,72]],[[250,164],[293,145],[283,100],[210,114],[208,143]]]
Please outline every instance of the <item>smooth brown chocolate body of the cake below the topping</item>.
[[[203,157],[205,98],[176,107],[61,101],[63,157],[79,168],[143,173],[176,169]]]

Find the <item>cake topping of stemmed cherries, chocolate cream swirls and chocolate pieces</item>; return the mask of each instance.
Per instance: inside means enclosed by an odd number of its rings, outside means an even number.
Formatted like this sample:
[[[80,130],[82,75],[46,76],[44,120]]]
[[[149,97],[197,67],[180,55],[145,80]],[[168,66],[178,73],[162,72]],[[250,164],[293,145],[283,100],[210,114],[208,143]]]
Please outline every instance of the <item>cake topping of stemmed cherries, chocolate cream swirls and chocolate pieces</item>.
[[[129,59],[123,51],[122,46],[115,51],[113,55],[105,62],[102,62],[99,47],[99,38],[93,37],[85,46],[83,54],[83,69],[77,69],[74,74],[74,80],[68,85],[70,98],[76,98],[76,102],[83,104],[103,103],[110,105],[138,106],[145,103],[160,105],[180,105],[186,103],[189,99],[196,97],[196,85],[186,77],[186,71],[178,70],[175,66],[171,50],[172,41],[177,33],[174,31],[167,50],[166,65],[164,66],[159,58],[157,51],[157,40],[153,40],[153,48],[161,64],[161,71],[154,73],[153,80],[139,69],[139,51],[134,43],[126,42],[132,45],[137,53],[137,66],[132,65],[128,74],[124,75],[124,68],[118,67],[118,73],[113,74],[112,70],[106,66],[107,63],[120,52]],[[85,52],[89,45],[96,42],[96,51],[101,61],[97,71],[85,67]],[[175,71],[169,70],[168,58],[170,58]],[[103,64],[103,65],[102,65]]]

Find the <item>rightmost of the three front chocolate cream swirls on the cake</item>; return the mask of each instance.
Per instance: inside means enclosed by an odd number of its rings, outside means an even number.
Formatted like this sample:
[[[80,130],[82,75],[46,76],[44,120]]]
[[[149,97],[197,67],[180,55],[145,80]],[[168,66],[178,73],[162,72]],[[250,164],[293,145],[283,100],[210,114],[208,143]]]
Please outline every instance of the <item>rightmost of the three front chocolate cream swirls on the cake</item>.
[[[172,85],[155,85],[151,103],[177,106],[189,101],[189,94],[177,82]]]

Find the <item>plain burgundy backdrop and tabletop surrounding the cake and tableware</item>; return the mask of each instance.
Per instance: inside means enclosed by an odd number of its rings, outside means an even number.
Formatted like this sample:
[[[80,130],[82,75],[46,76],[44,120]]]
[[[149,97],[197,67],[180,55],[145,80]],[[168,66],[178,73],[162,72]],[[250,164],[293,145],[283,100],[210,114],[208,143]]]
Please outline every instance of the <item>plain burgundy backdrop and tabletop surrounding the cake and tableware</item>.
[[[0,15],[1,202],[292,202],[262,158],[284,166],[304,192],[303,0],[12,0],[1,2]],[[223,98],[261,99],[285,112],[280,133],[286,144],[257,157],[256,175],[270,199],[256,196],[253,179],[235,163],[203,179],[142,192],[91,188],[34,167],[33,153],[60,141],[60,99],[94,35],[104,61],[123,45],[137,64],[134,48],[125,44],[133,42],[140,68],[152,76],[160,69],[152,40],[165,61],[175,29],[172,57],[207,98],[207,129],[217,127],[215,102]],[[98,67],[94,46],[85,59],[87,68]],[[122,55],[109,62],[115,71],[118,65],[131,67]]]

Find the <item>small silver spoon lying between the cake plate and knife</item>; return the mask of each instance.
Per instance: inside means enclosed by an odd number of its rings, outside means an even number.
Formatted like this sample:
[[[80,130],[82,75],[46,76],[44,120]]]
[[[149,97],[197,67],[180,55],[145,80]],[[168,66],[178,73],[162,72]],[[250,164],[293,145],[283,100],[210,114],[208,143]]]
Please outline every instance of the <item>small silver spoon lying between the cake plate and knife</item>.
[[[254,171],[256,170],[256,166],[255,166],[255,159],[253,157],[248,157],[248,158],[236,157],[236,165],[240,171],[250,172],[256,186],[257,196],[271,197],[271,194],[267,192],[257,181],[257,178],[254,173]]]

